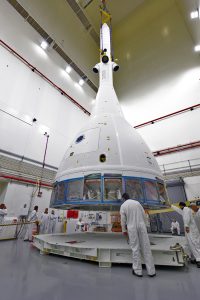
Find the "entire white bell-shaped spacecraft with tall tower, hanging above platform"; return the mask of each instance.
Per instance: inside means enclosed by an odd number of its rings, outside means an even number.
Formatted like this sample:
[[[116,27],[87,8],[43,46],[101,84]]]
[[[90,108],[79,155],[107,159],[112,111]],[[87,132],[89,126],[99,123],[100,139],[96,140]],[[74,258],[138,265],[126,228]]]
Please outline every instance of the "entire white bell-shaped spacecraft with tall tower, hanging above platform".
[[[51,206],[116,210],[129,193],[144,207],[167,202],[159,166],[136,130],[125,120],[113,87],[110,28],[101,28],[103,54],[94,69],[99,90],[90,119],[75,136],[59,167]]]

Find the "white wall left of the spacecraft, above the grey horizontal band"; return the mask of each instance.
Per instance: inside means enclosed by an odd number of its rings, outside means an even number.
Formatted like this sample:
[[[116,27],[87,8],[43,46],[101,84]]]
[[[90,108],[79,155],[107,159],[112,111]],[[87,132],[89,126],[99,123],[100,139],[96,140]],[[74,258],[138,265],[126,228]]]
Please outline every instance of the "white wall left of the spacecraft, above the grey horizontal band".
[[[45,52],[39,47],[41,37],[6,1],[0,2],[0,38],[91,109],[95,93],[87,85],[75,86],[77,75],[71,77],[64,72],[65,63],[53,49]],[[0,64],[1,149],[42,161],[46,142],[43,133],[47,131],[46,163],[58,166],[68,143],[88,116],[2,46]],[[35,117],[37,122],[30,126],[14,116],[29,121]]]

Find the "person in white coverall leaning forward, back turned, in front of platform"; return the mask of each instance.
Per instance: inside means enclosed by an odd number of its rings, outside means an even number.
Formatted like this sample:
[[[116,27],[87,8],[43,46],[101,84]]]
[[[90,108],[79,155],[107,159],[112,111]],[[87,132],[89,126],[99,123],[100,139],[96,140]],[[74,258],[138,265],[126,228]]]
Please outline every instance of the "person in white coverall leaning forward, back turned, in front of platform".
[[[130,199],[127,193],[122,195],[125,202],[121,205],[121,226],[124,235],[128,235],[129,245],[133,254],[132,273],[142,277],[141,254],[150,277],[156,275],[150,241],[145,224],[145,212],[142,205]]]

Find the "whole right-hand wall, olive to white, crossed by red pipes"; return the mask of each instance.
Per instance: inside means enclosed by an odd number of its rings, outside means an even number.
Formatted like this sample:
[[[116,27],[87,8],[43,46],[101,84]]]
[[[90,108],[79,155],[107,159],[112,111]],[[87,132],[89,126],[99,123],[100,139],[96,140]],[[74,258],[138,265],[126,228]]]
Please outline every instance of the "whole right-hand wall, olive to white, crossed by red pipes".
[[[116,90],[136,126],[200,103],[199,54],[173,0],[149,0],[118,24]],[[200,140],[200,109],[137,131],[152,151]],[[161,156],[160,164],[200,157],[199,149]]]

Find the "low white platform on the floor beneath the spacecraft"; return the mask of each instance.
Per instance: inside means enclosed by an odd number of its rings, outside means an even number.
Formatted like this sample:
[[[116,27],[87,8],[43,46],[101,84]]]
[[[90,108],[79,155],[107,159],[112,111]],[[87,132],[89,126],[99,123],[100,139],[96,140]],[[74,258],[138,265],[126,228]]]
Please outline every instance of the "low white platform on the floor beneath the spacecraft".
[[[150,234],[151,250],[155,265],[184,266],[184,236]],[[179,243],[180,249],[170,249]],[[83,232],[75,234],[36,235],[33,244],[41,254],[56,254],[77,259],[96,261],[99,267],[111,267],[112,263],[132,263],[132,252],[121,233]]]

